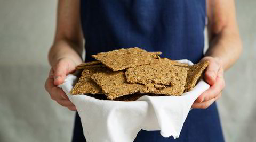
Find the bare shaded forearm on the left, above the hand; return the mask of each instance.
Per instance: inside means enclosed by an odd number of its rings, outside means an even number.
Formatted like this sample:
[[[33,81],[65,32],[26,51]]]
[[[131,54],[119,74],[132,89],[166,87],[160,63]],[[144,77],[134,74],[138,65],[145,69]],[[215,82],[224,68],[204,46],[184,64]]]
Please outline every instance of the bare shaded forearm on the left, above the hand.
[[[52,66],[61,58],[69,58],[75,64],[82,62],[83,34],[79,2],[79,0],[59,0],[58,2],[57,30],[48,55]]]

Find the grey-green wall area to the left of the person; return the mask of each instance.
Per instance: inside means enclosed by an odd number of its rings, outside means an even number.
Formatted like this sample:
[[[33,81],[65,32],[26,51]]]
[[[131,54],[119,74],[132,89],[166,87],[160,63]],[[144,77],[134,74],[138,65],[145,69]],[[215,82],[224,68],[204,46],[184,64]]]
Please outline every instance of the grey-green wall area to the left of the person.
[[[44,90],[57,1],[0,0],[0,141],[70,141],[74,112]]]

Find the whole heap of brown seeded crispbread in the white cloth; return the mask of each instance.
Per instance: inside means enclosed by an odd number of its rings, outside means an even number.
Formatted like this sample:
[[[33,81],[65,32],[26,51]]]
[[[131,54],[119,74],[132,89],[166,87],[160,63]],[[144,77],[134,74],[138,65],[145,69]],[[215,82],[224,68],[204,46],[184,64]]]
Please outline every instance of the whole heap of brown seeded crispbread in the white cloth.
[[[135,101],[142,95],[180,96],[194,88],[209,64],[189,66],[160,58],[161,54],[134,47],[92,55],[97,61],[77,66],[82,76],[71,94],[118,101]]]

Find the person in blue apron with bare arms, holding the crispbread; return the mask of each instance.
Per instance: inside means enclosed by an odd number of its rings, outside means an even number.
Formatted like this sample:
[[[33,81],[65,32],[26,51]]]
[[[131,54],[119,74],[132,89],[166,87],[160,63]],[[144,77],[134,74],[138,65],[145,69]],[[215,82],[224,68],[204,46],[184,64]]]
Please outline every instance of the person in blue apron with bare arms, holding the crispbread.
[[[209,48],[204,55],[205,26]],[[60,0],[45,88],[53,100],[72,111],[76,107],[57,85],[82,63],[83,39],[85,61],[92,61],[91,55],[98,52],[127,47],[162,51],[161,57],[173,60],[208,60],[204,79],[210,88],[194,102],[180,137],[174,140],[159,131],[141,130],[135,141],[224,141],[215,101],[225,87],[224,71],[242,51],[234,0]],[[73,141],[85,141],[77,113]]]

